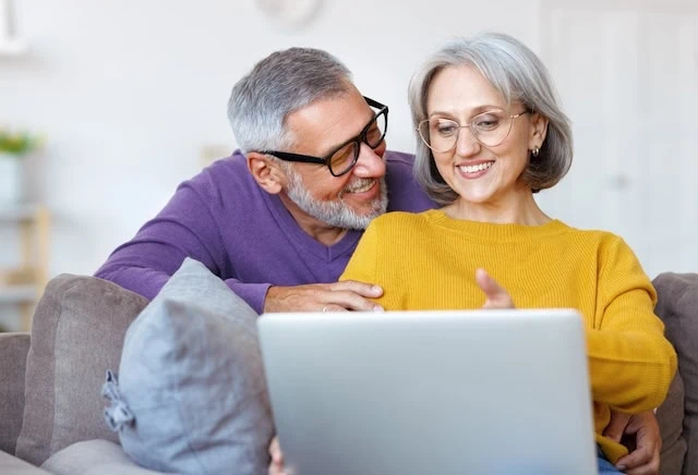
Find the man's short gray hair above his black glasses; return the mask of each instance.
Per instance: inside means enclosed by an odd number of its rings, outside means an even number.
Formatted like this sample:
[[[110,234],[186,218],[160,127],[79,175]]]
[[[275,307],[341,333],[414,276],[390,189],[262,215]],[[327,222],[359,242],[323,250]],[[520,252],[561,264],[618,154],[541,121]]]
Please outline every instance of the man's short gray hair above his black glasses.
[[[351,72],[326,51],[289,48],[257,62],[232,88],[228,120],[238,146],[282,150],[293,144],[286,118],[311,102],[346,94]]]

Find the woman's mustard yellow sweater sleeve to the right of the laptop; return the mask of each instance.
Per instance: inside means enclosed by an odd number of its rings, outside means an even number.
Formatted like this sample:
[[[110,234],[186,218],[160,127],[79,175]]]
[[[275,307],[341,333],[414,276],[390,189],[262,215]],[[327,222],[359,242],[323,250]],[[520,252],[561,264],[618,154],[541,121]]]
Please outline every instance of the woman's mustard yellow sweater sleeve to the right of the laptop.
[[[638,413],[657,407],[676,372],[676,353],[654,315],[657,293],[617,236],[599,251],[597,315],[587,333],[594,401]]]

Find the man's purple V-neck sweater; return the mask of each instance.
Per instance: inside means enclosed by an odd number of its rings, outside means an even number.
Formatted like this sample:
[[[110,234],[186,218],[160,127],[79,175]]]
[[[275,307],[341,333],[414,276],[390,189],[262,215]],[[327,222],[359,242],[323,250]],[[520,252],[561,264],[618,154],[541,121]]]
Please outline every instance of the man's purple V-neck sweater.
[[[412,179],[412,156],[385,154],[388,210],[423,211],[434,204]],[[363,231],[326,246],[308,235],[278,195],[262,190],[236,151],[183,182],[155,217],[97,270],[153,299],[184,257],[203,263],[262,313],[270,285],[336,282]]]

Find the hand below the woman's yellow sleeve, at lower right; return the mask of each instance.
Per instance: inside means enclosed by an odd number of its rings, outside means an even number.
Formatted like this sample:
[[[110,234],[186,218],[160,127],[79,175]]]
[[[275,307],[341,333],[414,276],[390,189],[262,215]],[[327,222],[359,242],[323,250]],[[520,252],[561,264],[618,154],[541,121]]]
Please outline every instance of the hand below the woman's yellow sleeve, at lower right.
[[[611,412],[611,422],[603,435],[616,442],[623,435],[635,436],[635,450],[621,458],[615,466],[627,475],[659,474],[662,436],[652,411],[636,415]]]

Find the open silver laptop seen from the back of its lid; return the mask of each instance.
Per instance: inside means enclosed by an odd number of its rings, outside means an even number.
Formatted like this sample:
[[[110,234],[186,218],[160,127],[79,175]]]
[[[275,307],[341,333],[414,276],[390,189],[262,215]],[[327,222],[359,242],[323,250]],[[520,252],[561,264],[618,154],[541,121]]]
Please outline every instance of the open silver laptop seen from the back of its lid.
[[[266,314],[293,475],[597,474],[575,310]]]

